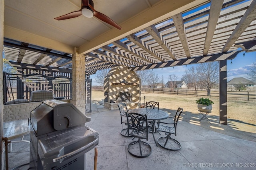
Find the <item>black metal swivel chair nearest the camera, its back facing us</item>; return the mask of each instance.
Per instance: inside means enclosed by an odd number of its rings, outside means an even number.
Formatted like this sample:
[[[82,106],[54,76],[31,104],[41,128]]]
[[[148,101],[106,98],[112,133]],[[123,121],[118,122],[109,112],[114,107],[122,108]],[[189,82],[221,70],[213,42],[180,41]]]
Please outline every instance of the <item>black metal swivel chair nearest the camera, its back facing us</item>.
[[[138,138],[137,141],[129,143],[127,150],[132,156],[145,158],[152,152],[151,146],[141,140],[146,139],[148,141],[148,133],[152,130],[148,127],[147,115],[140,115],[138,113],[126,113],[126,115],[127,121],[131,121],[128,123],[128,134]],[[134,145],[136,143],[139,145]]]

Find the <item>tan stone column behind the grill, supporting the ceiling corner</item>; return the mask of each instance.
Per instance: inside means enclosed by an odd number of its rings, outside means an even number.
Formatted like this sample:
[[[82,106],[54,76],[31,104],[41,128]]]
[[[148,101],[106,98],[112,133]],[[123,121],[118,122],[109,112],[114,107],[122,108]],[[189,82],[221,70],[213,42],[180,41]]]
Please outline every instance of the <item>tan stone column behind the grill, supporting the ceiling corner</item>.
[[[72,55],[71,103],[85,114],[85,58],[78,51],[78,47],[75,47],[74,54]]]

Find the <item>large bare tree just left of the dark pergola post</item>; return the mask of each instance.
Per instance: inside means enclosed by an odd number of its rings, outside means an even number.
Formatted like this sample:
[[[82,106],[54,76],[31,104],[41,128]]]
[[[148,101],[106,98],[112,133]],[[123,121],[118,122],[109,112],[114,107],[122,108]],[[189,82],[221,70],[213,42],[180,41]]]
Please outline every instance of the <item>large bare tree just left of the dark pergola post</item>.
[[[196,67],[198,80],[203,88],[210,95],[210,90],[218,84],[219,80],[219,64],[218,62],[202,63]]]

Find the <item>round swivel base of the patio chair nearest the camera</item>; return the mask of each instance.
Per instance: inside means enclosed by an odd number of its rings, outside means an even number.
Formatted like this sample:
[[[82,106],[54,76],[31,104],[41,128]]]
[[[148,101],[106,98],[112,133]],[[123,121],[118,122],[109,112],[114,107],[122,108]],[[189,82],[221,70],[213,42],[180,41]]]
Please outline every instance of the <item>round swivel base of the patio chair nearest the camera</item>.
[[[135,154],[132,152],[130,146],[131,145],[134,145],[136,143],[139,143],[139,150],[140,150],[140,154]],[[142,145],[143,144],[143,145]],[[145,146],[143,149],[146,150],[147,152],[146,153],[143,153],[142,152],[142,147]],[[129,143],[128,147],[127,147],[127,150],[128,152],[132,155],[132,156],[135,156],[137,158],[146,158],[147,156],[149,156],[152,152],[152,149],[151,149],[151,146],[144,142],[144,141],[141,141],[140,139],[138,139],[138,141],[132,141],[131,143]]]

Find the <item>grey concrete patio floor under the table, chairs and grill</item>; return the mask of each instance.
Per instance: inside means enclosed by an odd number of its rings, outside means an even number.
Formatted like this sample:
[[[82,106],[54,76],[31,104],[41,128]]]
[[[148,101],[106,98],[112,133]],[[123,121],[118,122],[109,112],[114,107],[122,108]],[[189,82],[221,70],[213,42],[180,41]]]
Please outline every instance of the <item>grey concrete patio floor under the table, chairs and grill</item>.
[[[152,147],[152,154],[146,158],[136,158],[126,149],[132,138],[120,135],[125,126],[120,124],[119,110],[110,111],[96,104],[92,107],[92,114],[88,115],[91,121],[86,125],[99,132],[98,170],[256,169],[255,133],[235,130],[232,125],[220,125],[218,117],[209,115],[210,124],[206,120],[200,122],[202,115],[199,113],[184,111],[178,123],[177,136],[174,137],[182,144],[180,150],[156,147],[150,133],[148,143]],[[156,133],[156,137],[159,136]],[[24,139],[29,140],[29,135]],[[29,154],[29,143],[13,143],[8,156],[9,169],[27,164]],[[29,165],[16,169],[28,168]],[[86,169],[94,169],[94,150],[86,154]]]

